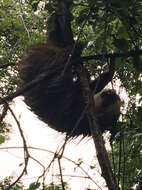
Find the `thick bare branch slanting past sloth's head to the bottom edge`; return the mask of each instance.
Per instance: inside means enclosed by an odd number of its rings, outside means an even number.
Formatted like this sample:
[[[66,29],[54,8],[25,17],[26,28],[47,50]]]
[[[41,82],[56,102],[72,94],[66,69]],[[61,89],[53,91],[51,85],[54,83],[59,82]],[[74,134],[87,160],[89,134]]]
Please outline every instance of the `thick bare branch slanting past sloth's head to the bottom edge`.
[[[104,177],[109,190],[119,190],[119,186],[116,182],[116,179],[112,172],[110,161],[108,159],[103,137],[99,130],[99,125],[97,123],[97,120],[95,118],[95,114],[94,114],[95,105],[93,101],[93,96],[91,95],[87,75],[84,68],[82,69],[82,72],[79,73],[79,76],[80,76],[80,82],[82,85],[84,101],[86,105],[88,105],[87,115],[89,119],[91,134],[92,134],[95,147],[96,147],[97,158],[102,170],[102,176]]]

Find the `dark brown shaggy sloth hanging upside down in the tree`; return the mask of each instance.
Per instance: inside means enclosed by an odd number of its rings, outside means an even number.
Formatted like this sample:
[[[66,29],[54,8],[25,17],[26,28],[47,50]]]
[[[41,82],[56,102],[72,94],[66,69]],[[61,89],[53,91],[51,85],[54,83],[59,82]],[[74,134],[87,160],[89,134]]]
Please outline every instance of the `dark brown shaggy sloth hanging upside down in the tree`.
[[[73,39],[71,5],[72,0],[57,1],[57,10],[47,22],[47,41],[29,48],[19,74],[23,86],[46,72],[43,81],[24,92],[26,104],[40,120],[69,137],[90,136],[87,114],[81,116],[85,103],[75,73],[84,45]],[[114,69],[114,63],[110,63],[107,72],[90,80],[95,117],[102,133],[113,131],[120,114],[119,96],[114,90],[103,90],[112,80]]]

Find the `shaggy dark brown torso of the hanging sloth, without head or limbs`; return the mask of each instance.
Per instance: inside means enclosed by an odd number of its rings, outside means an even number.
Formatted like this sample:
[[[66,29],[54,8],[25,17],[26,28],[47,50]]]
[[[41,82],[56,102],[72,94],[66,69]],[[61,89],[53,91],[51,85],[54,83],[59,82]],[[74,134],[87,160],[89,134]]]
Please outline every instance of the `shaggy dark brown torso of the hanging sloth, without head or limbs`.
[[[72,47],[57,48],[48,43],[35,45],[23,58],[20,71],[22,85],[42,72],[49,73],[46,80],[24,94],[25,102],[50,127],[67,134],[72,132],[84,109],[81,89],[78,82],[73,82],[68,61],[71,51]],[[64,71],[66,64],[67,69]],[[90,134],[87,126],[87,119],[85,122],[82,120],[72,135]]]

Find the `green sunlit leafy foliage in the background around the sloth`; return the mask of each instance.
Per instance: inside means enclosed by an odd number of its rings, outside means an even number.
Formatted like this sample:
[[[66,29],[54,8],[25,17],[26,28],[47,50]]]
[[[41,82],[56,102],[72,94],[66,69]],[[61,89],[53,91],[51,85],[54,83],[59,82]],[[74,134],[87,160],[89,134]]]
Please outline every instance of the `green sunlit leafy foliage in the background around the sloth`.
[[[7,97],[19,89],[18,62],[31,45],[46,40],[46,20],[55,9],[53,1],[0,1],[0,96]],[[74,0],[72,29],[74,36],[86,42],[83,56],[122,53],[116,59],[116,74],[111,83],[122,97],[122,114],[118,133],[112,143],[110,159],[122,190],[142,189],[142,1]],[[128,52],[134,52],[128,56]],[[85,63],[92,76],[105,70],[105,58]],[[117,86],[116,86],[117,85]],[[7,104],[1,104],[0,144],[8,139],[4,122]],[[5,189],[11,179],[0,182]],[[18,182],[11,189],[23,189]],[[40,188],[31,184],[29,190]],[[68,187],[65,188],[68,189]],[[61,186],[44,186],[61,189]]]

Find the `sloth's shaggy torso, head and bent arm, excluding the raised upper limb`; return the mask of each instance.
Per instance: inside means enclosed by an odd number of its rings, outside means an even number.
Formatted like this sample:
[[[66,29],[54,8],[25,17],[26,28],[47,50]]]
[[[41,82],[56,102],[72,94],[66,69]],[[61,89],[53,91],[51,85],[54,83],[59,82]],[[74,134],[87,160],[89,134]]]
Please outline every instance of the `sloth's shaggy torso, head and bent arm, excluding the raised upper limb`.
[[[61,48],[51,42],[32,46],[21,62],[21,84],[27,84],[46,71],[46,79],[24,93],[26,104],[53,129],[72,137],[90,136],[87,115],[80,118],[85,105],[69,59],[72,48]],[[81,52],[82,45],[77,44],[73,57],[79,57]],[[112,75],[110,71],[105,72],[90,84],[92,90],[96,83],[98,86],[94,95],[95,113],[102,132],[111,131],[120,112],[119,96],[112,90],[101,91]]]

